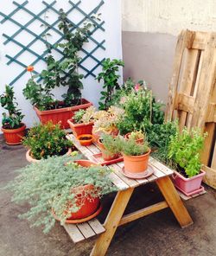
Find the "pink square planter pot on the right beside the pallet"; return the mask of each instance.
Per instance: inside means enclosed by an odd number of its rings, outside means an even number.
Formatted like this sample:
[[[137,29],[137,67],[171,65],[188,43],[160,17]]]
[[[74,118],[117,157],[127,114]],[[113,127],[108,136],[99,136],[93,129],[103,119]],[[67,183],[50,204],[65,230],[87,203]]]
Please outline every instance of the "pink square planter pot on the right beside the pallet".
[[[189,196],[194,195],[200,191],[202,179],[206,175],[204,170],[200,170],[200,174],[190,178],[182,176],[177,171],[174,172],[175,173],[172,177],[172,180],[175,184],[175,187],[181,190],[183,194]]]

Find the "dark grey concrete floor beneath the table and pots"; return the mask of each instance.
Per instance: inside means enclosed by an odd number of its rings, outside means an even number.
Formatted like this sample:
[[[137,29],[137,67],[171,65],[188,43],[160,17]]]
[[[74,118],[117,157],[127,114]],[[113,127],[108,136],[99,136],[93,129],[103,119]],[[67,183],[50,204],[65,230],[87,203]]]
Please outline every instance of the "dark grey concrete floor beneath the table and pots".
[[[8,146],[0,138],[0,186],[16,176],[15,170],[27,164],[22,145]],[[118,256],[213,256],[216,255],[216,191],[206,187],[206,195],[186,202],[194,225],[181,229],[167,208],[159,213],[134,221],[118,232],[107,255]],[[114,195],[104,199],[103,221]],[[162,195],[154,184],[137,189],[131,198],[131,209],[159,202]],[[74,245],[59,223],[48,235],[41,228],[30,228],[28,221],[17,214],[26,207],[10,202],[10,193],[0,190],[0,256],[85,256],[89,255],[94,239]]]

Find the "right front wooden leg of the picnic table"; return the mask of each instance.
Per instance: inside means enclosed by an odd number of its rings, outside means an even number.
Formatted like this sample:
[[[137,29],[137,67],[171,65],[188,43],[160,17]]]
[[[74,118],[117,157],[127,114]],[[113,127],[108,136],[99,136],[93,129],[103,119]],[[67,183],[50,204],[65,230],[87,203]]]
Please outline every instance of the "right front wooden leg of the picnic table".
[[[185,208],[183,202],[181,202],[181,198],[170,178],[168,176],[163,177],[157,180],[156,183],[181,227],[187,227],[193,224],[193,221],[187,212],[187,208]]]

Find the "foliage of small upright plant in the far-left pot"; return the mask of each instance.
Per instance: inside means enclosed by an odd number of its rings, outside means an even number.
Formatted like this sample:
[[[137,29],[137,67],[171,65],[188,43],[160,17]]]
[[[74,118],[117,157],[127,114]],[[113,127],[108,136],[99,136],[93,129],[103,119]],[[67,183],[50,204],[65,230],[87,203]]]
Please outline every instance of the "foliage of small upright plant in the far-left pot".
[[[8,111],[8,114],[3,112],[2,125],[4,129],[16,129],[22,126],[22,112],[17,109],[14,96],[14,89],[12,86],[5,86],[5,92],[0,95],[1,106]]]

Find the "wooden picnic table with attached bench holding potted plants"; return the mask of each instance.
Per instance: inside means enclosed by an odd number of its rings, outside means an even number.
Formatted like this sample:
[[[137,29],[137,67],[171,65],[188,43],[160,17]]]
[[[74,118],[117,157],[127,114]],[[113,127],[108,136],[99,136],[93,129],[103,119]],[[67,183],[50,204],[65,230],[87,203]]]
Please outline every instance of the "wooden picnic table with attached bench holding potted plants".
[[[96,144],[84,147],[79,144],[72,134],[67,135],[67,138],[73,141],[73,144],[84,156],[89,160],[95,161],[93,155],[100,152]],[[112,237],[119,226],[164,208],[170,208],[172,210],[181,227],[187,227],[193,224],[193,221],[187,212],[187,208],[185,208],[183,202],[181,202],[181,198],[169,177],[173,174],[173,170],[170,170],[166,165],[158,162],[153,157],[149,157],[149,165],[154,169],[154,174],[148,178],[137,180],[127,178],[123,175],[123,162],[109,165],[109,167],[114,170],[110,177],[111,181],[117,186],[118,193],[111,205],[105,223],[102,225],[97,219],[93,219],[92,221],[76,225],[65,224],[64,227],[73,242],[79,242],[80,240],[85,240],[93,235],[99,234],[91,255],[103,256],[110,246]],[[136,212],[124,215],[124,210],[130,201],[130,196],[133,194],[134,189],[149,182],[156,182],[165,200],[157,202],[147,208],[139,209]]]

